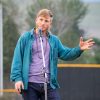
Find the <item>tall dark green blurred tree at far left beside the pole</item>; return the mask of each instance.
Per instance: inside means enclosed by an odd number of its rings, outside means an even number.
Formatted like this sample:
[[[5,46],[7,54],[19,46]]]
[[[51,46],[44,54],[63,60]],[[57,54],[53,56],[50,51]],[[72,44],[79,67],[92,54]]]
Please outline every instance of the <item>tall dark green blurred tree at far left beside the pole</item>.
[[[4,76],[9,80],[10,67],[12,62],[13,51],[18,39],[18,29],[14,21],[16,11],[12,9],[14,3],[10,0],[9,2],[3,1],[3,66]],[[16,6],[14,7],[16,8]],[[14,11],[14,12],[13,12]],[[6,83],[6,82],[5,82]]]

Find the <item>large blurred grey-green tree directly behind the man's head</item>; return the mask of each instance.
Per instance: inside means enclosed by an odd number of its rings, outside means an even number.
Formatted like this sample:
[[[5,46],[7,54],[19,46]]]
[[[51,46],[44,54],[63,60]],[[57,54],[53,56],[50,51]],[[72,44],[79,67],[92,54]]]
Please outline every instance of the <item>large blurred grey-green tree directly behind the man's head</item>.
[[[28,9],[27,21],[30,28],[35,26],[36,13],[42,8],[52,10],[54,19],[51,31],[60,37],[63,44],[73,47],[79,43],[80,32],[83,31],[79,29],[78,24],[87,11],[87,6],[83,2],[80,0],[58,0],[57,2],[54,0],[37,0]],[[81,62],[84,62],[83,58]]]

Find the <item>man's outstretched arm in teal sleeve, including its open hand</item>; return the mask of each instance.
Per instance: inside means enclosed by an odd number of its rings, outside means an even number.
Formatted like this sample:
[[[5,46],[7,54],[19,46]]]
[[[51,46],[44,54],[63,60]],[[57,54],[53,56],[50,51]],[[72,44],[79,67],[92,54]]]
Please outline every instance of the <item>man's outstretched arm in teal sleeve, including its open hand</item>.
[[[60,40],[58,40],[58,57],[62,60],[74,60],[78,58],[84,50],[90,49],[93,44],[92,39],[83,41],[83,38],[80,38],[79,46],[68,48],[63,46]]]

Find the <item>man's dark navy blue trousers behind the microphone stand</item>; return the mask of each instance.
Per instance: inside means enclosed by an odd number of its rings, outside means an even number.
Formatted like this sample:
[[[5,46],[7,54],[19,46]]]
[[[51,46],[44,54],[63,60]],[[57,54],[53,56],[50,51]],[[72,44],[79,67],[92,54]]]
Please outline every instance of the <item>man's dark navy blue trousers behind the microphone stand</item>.
[[[24,100],[45,100],[45,91],[43,83],[28,83],[28,89],[22,90],[22,97]],[[60,100],[57,89],[52,89],[50,84],[47,85],[48,100]]]

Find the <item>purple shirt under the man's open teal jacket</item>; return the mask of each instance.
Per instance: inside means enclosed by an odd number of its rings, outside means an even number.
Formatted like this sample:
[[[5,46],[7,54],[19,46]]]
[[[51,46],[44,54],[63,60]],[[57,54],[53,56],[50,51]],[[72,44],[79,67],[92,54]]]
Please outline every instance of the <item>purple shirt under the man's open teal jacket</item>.
[[[50,79],[50,69],[49,69],[49,52],[50,46],[46,36],[42,36],[43,40],[43,50],[45,57],[46,72],[48,75],[48,82]],[[29,82],[44,83],[44,73],[43,73],[43,59],[39,36],[37,35],[32,44],[32,61],[29,68]]]

